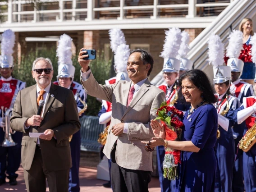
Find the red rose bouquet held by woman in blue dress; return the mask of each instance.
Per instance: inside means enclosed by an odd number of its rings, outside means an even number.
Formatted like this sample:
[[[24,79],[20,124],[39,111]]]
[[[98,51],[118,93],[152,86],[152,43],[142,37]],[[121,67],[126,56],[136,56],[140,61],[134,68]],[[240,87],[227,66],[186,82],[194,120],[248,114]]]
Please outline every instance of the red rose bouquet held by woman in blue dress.
[[[160,119],[165,127],[165,139],[168,141],[180,141],[182,127],[184,126],[181,119],[183,112],[175,107],[168,106],[164,101],[157,110],[157,119]],[[175,180],[178,177],[177,166],[180,161],[180,151],[165,147],[165,158],[163,162],[164,178]]]

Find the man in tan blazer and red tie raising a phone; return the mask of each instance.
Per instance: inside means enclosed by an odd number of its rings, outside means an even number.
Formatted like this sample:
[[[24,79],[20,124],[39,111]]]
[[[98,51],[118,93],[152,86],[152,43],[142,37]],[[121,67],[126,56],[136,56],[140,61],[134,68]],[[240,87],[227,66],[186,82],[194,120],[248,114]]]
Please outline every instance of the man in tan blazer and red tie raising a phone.
[[[151,181],[152,153],[141,141],[154,137],[150,121],[164,101],[165,93],[152,85],[150,75],[154,60],[145,50],[132,50],[127,62],[131,82],[119,81],[99,85],[90,61],[83,60],[87,51],[80,51],[81,82],[88,95],[110,101],[112,116],[104,154],[111,157],[111,184],[114,192],[148,192]]]

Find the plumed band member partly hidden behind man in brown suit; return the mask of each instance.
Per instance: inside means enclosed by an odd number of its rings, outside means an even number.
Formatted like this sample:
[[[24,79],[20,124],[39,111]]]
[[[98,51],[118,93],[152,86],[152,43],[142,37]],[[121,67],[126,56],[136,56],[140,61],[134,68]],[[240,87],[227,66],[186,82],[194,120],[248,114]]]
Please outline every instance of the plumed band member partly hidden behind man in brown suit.
[[[59,38],[59,45],[57,48],[58,56],[58,75],[55,85],[68,88],[73,91],[75,100],[78,105],[79,118],[83,116],[85,110],[86,93],[81,84],[74,82],[75,67],[72,62],[71,52],[72,38],[63,34]],[[82,101],[82,102],[81,102]],[[72,158],[72,168],[69,172],[69,192],[79,192],[79,162],[80,162],[80,146],[81,146],[81,132],[80,130],[73,134],[70,138],[70,149]]]

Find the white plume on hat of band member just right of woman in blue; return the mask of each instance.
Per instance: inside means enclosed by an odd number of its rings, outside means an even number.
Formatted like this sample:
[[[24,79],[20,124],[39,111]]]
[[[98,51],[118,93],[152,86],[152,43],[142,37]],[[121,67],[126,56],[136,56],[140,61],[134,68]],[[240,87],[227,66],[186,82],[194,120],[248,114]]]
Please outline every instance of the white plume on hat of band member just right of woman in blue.
[[[211,34],[208,40],[208,57],[207,59],[213,66],[221,66],[224,63],[224,44],[218,35]]]

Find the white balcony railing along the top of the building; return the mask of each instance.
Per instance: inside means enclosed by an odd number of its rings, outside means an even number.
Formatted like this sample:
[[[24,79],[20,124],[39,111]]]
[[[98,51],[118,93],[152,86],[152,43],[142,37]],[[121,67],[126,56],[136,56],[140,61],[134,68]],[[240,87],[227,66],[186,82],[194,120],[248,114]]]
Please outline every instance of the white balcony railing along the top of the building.
[[[1,22],[217,16],[233,0],[28,0],[0,2]]]

